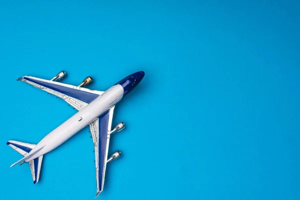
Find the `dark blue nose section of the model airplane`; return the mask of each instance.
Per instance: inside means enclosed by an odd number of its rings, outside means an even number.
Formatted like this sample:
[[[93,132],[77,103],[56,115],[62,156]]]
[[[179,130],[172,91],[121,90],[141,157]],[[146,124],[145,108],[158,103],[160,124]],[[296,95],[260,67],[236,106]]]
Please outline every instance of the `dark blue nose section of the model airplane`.
[[[143,78],[145,72],[137,71],[121,79],[118,83],[124,88],[124,95],[130,92]]]

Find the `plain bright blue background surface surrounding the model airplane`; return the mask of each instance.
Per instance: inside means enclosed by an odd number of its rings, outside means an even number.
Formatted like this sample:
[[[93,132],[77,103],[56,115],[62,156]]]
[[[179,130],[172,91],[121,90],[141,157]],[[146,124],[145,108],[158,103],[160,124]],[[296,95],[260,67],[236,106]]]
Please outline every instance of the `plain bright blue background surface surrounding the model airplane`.
[[[300,3],[0,1],[0,199],[94,199],[88,128],[44,156],[33,185],[8,139],[37,143],[74,114],[22,75],[105,90],[117,106],[99,199],[300,199]]]

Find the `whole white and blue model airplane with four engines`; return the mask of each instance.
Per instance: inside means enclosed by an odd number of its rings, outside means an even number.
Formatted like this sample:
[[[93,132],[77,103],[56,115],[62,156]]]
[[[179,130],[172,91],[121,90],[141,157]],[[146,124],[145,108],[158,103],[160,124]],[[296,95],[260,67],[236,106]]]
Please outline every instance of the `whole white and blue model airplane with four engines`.
[[[97,91],[83,88],[92,81],[88,76],[78,86],[58,82],[66,76],[60,71],[50,80],[23,76],[17,78],[39,89],[47,91],[65,100],[78,110],[76,114],[67,119],[57,128],[48,133],[37,144],[9,140],[7,144],[24,157],[11,166],[29,162],[33,183],[38,182],[42,157],[53,150],[86,125],[89,125],[94,144],[97,197],[103,190],[106,163],[117,158],[121,152],[115,151],[108,159],[108,145],[110,134],[118,132],[125,127],[119,122],[111,129],[112,115],[115,104],[130,92],[143,78],[144,72],[138,71],[121,79],[106,91]],[[11,167],[10,166],[10,167]]]

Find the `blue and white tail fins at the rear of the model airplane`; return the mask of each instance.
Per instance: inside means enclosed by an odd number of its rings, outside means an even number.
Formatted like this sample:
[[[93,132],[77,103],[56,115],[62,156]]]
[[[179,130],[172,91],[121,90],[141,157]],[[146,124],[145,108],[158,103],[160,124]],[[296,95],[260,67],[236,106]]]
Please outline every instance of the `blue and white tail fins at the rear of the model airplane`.
[[[14,140],[8,140],[7,145],[9,145],[11,148],[22,154],[24,157],[17,162],[13,163],[11,166],[14,166],[15,164],[22,162],[31,156],[33,156],[35,153],[37,153],[39,150],[43,148],[43,146],[37,150],[35,150],[33,153],[29,154],[29,152],[35,147],[35,144],[20,142],[20,141],[14,141]],[[33,183],[35,184],[39,179],[39,172],[41,167],[41,161],[42,161],[42,155],[34,158],[33,160],[29,161],[29,166],[32,174]],[[10,166],[10,167],[11,167]]]

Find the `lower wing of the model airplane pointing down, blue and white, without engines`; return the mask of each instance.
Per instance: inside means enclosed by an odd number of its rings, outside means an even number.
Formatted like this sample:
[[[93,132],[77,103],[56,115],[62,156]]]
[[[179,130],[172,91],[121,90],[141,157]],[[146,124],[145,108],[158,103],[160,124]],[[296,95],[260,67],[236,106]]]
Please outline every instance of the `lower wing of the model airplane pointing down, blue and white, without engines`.
[[[103,190],[107,153],[111,132],[111,122],[114,106],[101,116],[89,123],[89,128],[94,143],[97,197]]]

